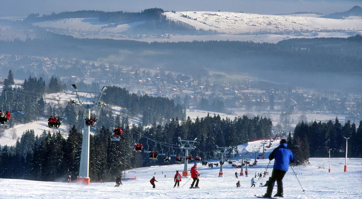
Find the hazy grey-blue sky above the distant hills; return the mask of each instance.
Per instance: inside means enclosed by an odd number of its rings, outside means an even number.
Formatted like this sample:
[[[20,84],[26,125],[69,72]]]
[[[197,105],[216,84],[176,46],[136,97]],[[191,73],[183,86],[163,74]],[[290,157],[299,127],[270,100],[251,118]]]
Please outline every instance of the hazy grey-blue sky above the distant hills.
[[[49,14],[64,10],[139,11],[159,7],[164,10],[244,11],[278,14],[291,12],[341,12],[362,0],[0,0],[0,16],[26,16],[29,13]]]

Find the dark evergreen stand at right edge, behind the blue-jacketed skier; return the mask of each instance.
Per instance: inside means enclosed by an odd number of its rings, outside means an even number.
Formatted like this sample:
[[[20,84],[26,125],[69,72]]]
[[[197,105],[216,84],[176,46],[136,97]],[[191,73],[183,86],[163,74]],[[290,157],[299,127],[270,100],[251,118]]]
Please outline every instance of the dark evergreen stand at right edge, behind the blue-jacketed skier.
[[[362,157],[362,121],[358,126],[348,120],[342,125],[338,118],[328,122],[300,122],[289,133],[288,147],[294,152],[296,165],[308,162],[309,157],[344,157],[346,139],[348,139],[348,157]]]

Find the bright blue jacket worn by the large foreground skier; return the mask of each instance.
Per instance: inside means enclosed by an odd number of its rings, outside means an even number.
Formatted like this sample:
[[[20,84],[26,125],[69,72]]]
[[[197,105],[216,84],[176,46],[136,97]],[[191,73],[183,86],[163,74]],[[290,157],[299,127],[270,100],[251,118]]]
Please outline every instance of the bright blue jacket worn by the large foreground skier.
[[[294,162],[293,153],[287,148],[287,144],[280,144],[269,155],[269,160],[274,161],[274,169],[288,171],[289,162]]]

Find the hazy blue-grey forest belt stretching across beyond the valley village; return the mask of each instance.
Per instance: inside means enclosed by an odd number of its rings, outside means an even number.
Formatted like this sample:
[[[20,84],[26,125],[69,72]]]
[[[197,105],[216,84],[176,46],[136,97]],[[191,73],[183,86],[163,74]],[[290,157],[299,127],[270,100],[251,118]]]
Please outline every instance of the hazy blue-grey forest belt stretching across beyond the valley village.
[[[52,34],[51,39],[14,39],[0,41],[0,52],[30,56],[47,56],[98,60],[121,49],[130,50],[121,63],[126,65],[165,65],[172,71],[199,74],[203,68],[236,72],[333,72],[352,74],[361,71],[362,36],[349,38],[289,39],[273,43],[241,41],[138,42],[113,39],[73,38]],[[333,45],[331,45],[333,44]],[[93,49],[87,51],[84,49]],[[140,51],[151,50],[144,55]],[[164,52],[167,51],[167,54]],[[194,60],[194,61],[190,61]],[[205,72],[205,71],[204,71]],[[205,75],[205,74],[204,74]],[[353,75],[360,75],[353,73]]]

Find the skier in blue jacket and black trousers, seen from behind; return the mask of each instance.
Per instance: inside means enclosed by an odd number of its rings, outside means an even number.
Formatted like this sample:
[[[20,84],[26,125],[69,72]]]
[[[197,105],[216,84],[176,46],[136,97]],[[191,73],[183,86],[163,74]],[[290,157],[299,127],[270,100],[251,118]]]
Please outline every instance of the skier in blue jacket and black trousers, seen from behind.
[[[288,171],[289,162],[294,162],[293,153],[287,148],[287,140],[280,140],[280,144],[277,148],[273,150],[273,152],[269,155],[269,160],[274,161],[273,173],[271,173],[271,179],[268,183],[268,189],[266,190],[266,194],[264,194],[264,198],[270,198],[271,192],[273,192],[275,181],[277,181],[278,192],[274,195],[274,197],[283,197],[283,177],[285,173]]]

